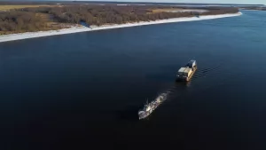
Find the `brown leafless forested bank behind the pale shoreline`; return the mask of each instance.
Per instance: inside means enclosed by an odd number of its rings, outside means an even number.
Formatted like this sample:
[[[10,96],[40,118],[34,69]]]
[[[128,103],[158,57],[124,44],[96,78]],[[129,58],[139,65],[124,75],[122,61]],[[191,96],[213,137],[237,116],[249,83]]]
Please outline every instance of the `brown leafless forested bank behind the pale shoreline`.
[[[156,9],[184,10],[158,5],[59,5],[12,9],[0,12],[0,34],[66,28],[81,22],[100,26],[239,12],[234,7],[206,7],[207,12],[154,12]]]

